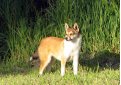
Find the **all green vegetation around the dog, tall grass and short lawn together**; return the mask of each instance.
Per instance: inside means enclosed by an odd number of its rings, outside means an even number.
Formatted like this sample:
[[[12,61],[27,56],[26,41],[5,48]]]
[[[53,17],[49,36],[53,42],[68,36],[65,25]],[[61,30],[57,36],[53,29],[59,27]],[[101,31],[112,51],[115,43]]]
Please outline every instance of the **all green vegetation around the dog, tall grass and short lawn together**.
[[[0,84],[118,85],[119,2],[51,0],[43,14],[36,9],[34,0],[1,0]],[[69,64],[62,78],[57,62],[55,72],[37,77],[38,69],[30,68],[29,57],[43,37],[64,37],[65,22],[71,26],[77,22],[83,35],[79,75],[73,76]]]

